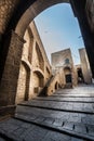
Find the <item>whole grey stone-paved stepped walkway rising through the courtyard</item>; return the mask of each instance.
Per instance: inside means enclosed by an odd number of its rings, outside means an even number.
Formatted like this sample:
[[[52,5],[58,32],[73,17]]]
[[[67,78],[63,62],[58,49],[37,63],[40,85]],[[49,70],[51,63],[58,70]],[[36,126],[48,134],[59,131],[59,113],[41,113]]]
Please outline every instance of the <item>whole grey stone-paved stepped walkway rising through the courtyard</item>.
[[[94,141],[94,86],[61,89],[17,105],[0,141]]]

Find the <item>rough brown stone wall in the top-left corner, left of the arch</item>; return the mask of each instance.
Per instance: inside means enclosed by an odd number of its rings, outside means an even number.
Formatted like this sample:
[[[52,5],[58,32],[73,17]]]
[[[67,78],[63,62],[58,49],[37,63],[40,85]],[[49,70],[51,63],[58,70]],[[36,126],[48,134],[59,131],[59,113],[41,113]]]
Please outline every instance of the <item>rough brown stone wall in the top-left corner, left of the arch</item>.
[[[13,16],[13,13],[16,11],[18,3],[19,0],[0,0],[0,80],[2,77],[5,60],[5,57],[3,59],[3,54],[5,56],[3,44],[8,38],[8,31],[5,30],[9,28],[9,23]]]

